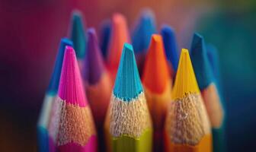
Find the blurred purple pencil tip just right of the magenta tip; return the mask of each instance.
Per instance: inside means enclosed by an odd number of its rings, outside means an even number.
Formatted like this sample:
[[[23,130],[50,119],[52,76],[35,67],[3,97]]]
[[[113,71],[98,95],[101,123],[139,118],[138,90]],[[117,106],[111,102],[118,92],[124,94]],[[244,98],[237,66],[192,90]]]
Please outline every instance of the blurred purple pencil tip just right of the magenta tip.
[[[104,71],[104,63],[101,50],[98,46],[98,38],[94,28],[88,29],[88,46],[83,67],[83,76],[88,84],[96,84]]]

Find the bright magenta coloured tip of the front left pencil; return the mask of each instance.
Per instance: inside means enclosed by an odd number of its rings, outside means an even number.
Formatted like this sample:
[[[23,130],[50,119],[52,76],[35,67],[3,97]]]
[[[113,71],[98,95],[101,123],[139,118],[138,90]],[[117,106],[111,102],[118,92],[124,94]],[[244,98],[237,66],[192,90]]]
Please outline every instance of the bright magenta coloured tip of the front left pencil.
[[[78,106],[87,105],[75,50],[71,46],[66,46],[58,95],[66,103]]]

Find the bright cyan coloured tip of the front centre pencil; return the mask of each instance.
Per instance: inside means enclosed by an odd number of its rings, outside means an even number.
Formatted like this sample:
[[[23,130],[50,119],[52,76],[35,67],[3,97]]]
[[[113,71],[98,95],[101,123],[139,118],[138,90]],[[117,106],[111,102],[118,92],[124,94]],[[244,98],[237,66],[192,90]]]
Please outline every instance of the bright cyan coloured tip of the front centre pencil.
[[[129,102],[143,91],[133,46],[125,43],[114,84],[114,95]]]

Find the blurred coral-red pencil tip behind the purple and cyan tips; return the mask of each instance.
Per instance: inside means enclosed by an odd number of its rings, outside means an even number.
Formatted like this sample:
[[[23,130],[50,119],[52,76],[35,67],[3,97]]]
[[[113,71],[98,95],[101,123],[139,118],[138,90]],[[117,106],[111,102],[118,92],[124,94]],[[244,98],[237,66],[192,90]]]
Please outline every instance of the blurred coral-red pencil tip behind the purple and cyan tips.
[[[116,78],[123,43],[130,43],[130,35],[126,25],[126,18],[122,14],[116,13],[112,17],[110,44],[107,52],[107,68],[110,71],[112,84],[114,84]]]

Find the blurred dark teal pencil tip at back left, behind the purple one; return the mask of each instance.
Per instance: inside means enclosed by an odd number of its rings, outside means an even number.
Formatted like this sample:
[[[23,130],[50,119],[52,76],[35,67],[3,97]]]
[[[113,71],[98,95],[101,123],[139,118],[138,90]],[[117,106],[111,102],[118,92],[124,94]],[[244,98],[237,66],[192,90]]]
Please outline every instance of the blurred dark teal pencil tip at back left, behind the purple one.
[[[85,25],[83,21],[82,12],[75,10],[72,12],[72,21],[69,31],[69,36],[74,43],[75,54],[78,59],[78,65],[82,68],[82,62],[85,58],[86,41]]]

